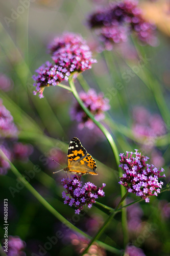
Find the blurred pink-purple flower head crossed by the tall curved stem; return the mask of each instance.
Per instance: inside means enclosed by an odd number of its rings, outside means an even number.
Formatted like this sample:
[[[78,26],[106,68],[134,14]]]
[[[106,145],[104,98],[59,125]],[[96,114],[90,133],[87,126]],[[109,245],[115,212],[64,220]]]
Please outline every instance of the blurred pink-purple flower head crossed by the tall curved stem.
[[[97,94],[93,89],[90,89],[87,93],[80,92],[79,96],[86,108],[94,115],[97,121],[105,118],[104,112],[110,109],[110,105],[108,103],[109,100],[103,97],[103,93]],[[71,109],[70,114],[72,120],[77,120],[79,122],[79,129],[83,129],[83,127],[93,129],[94,123],[86,115],[79,103],[76,102],[75,106]]]

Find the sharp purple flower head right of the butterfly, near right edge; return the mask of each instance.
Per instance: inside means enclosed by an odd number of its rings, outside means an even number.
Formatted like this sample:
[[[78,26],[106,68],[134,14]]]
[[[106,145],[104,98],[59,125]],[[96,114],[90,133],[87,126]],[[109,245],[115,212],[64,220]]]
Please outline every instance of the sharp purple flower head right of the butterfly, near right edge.
[[[148,203],[150,196],[157,196],[160,193],[163,182],[158,182],[158,178],[165,177],[165,175],[160,176],[160,172],[164,172],[164,169],[159,170],[153,164],[146,163],[149,157],[141,156],[137,150],[135,153],[127,152],[126,156],[124,154],[119,156],[121,157],[119,167],[124,170],[119,184],[125,186],[130,193],[145,199],[145,202]]]

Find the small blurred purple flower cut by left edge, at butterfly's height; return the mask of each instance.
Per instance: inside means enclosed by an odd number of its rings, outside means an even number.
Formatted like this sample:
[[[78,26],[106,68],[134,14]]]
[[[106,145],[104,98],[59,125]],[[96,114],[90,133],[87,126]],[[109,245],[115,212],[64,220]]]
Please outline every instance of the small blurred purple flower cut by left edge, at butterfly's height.
[[[1,150],[3,151],[3,153],[6,155],[6,157],[11,160],[11,152],[9,151],[9,149],[7,147],[5,147],[4,145],[0,146]],[[1,156],[0,156],[0,175],[6,175],[8,172],[8,169],[10,168],[10,164],[9,162],[7,162],[6,160],[4,160]]]

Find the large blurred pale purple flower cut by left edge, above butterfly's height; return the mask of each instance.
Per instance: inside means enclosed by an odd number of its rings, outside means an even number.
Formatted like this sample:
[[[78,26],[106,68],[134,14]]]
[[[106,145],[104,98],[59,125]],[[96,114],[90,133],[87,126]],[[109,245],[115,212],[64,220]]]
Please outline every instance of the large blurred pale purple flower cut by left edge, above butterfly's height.
[[[16,137],[17,132],[18,130],[14,124],[13,117],[0,99],[0,138]]]

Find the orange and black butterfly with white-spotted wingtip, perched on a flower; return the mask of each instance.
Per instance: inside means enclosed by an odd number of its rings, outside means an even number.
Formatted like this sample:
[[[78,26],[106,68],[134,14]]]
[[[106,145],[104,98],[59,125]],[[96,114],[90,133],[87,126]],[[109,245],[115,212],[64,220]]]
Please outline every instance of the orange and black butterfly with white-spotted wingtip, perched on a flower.
[[[80,140],[76,137],[72,138],[68,147],[67,167],[62,170],[76,175],[98,175],[96,168],[95,160],[87,153]]]

